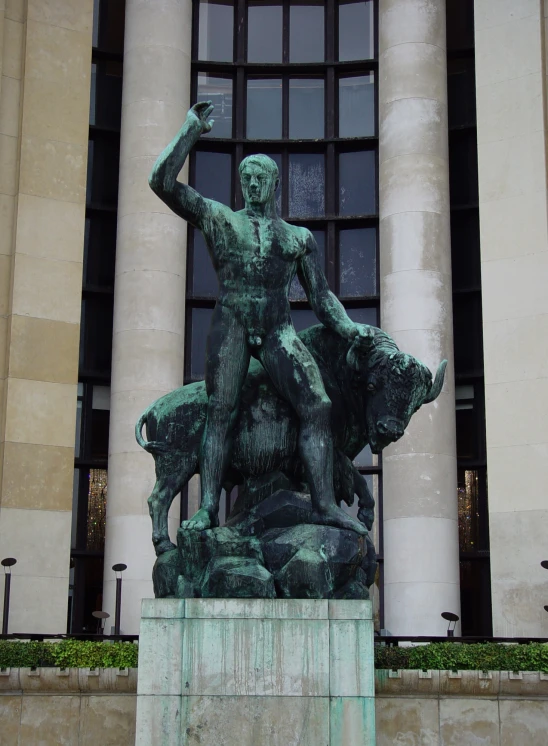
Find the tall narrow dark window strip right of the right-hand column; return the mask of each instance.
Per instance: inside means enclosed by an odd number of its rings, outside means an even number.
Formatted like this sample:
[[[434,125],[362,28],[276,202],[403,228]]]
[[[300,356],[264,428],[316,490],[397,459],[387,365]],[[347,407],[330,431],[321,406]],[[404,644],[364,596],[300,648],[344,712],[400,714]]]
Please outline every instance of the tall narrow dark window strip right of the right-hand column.
[[[489,635],[492,623],[473,0],[448,0],[447,46],[462,633]]]

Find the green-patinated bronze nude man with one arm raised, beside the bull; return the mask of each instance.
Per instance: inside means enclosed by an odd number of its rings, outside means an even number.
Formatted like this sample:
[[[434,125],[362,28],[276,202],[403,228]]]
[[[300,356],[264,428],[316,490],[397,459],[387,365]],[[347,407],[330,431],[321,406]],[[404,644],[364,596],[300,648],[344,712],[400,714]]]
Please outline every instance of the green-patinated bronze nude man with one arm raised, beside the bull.
[[[355,344],[360,344],[362,333],[329,290],[310,231],[277,215],[278,168],[271,158],[249,156],[240,164],[245,208],[239,212],[177,181],[190,150],[202,133],[211,130],[212,111],[209,101],[190,109],[149,178],[160,199],[202,231],[219,281],[206,352],[208,409],[200,459],[201,506],[183,527],[203,530],[219,525],[230,431],[253,356],[299,417],[299,454],[318,522],[365,534],[365,527],[335,501],[331,402],[316,362],[291,322],[289,287],[295,272],[325,326]]]

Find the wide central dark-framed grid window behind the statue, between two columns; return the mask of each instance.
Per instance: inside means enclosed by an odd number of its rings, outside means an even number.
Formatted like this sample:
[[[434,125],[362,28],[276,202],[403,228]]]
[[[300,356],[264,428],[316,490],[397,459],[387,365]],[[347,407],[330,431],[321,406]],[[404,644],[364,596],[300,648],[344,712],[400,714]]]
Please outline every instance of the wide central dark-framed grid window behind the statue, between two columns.
[[[238,165],[265,153],[278,164],[280,215],[309,228],[331,289],[357,322],[378,325],[377,61],[372,0],[194,2],[192,100],[215,104],[190,182],[239,210]],[[204,375],[217,281],[189,228],[186,381]],[[298,280],[297,331],[318,323]],[[380,503],[380,460],[357,464]],[[227,510],[234,495],[227,498]],[[185,500],[183,500],[183,505]],[[381,525],[381,506],[377,526]],[[382,537],[376,537],[382,559]]]

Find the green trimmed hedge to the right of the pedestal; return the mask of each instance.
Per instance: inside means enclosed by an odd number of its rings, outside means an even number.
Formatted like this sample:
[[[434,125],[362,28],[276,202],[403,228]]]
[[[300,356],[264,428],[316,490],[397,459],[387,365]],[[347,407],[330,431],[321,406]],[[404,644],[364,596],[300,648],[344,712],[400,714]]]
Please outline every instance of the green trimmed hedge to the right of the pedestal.
[[[413,647],[375,645],[375,668],[548,673],[548,645],[436,642]]]

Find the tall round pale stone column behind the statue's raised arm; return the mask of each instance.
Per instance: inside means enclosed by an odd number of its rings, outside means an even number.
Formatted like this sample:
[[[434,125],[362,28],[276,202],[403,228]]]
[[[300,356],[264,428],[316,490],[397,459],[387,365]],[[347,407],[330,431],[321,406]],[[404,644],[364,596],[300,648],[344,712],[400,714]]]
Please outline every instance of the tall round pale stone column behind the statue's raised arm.
[[[191,0],[128,0],[114,294],[109,487],[103,608],[114,618],[113,564],[123,562],[122,631],[138,633],[153,595],[147,498],[151,456],[134,427],[183,383],[186,224],[151,191],[148,175],[190,105]],[[178,524],[173,506],[172,529]]]

